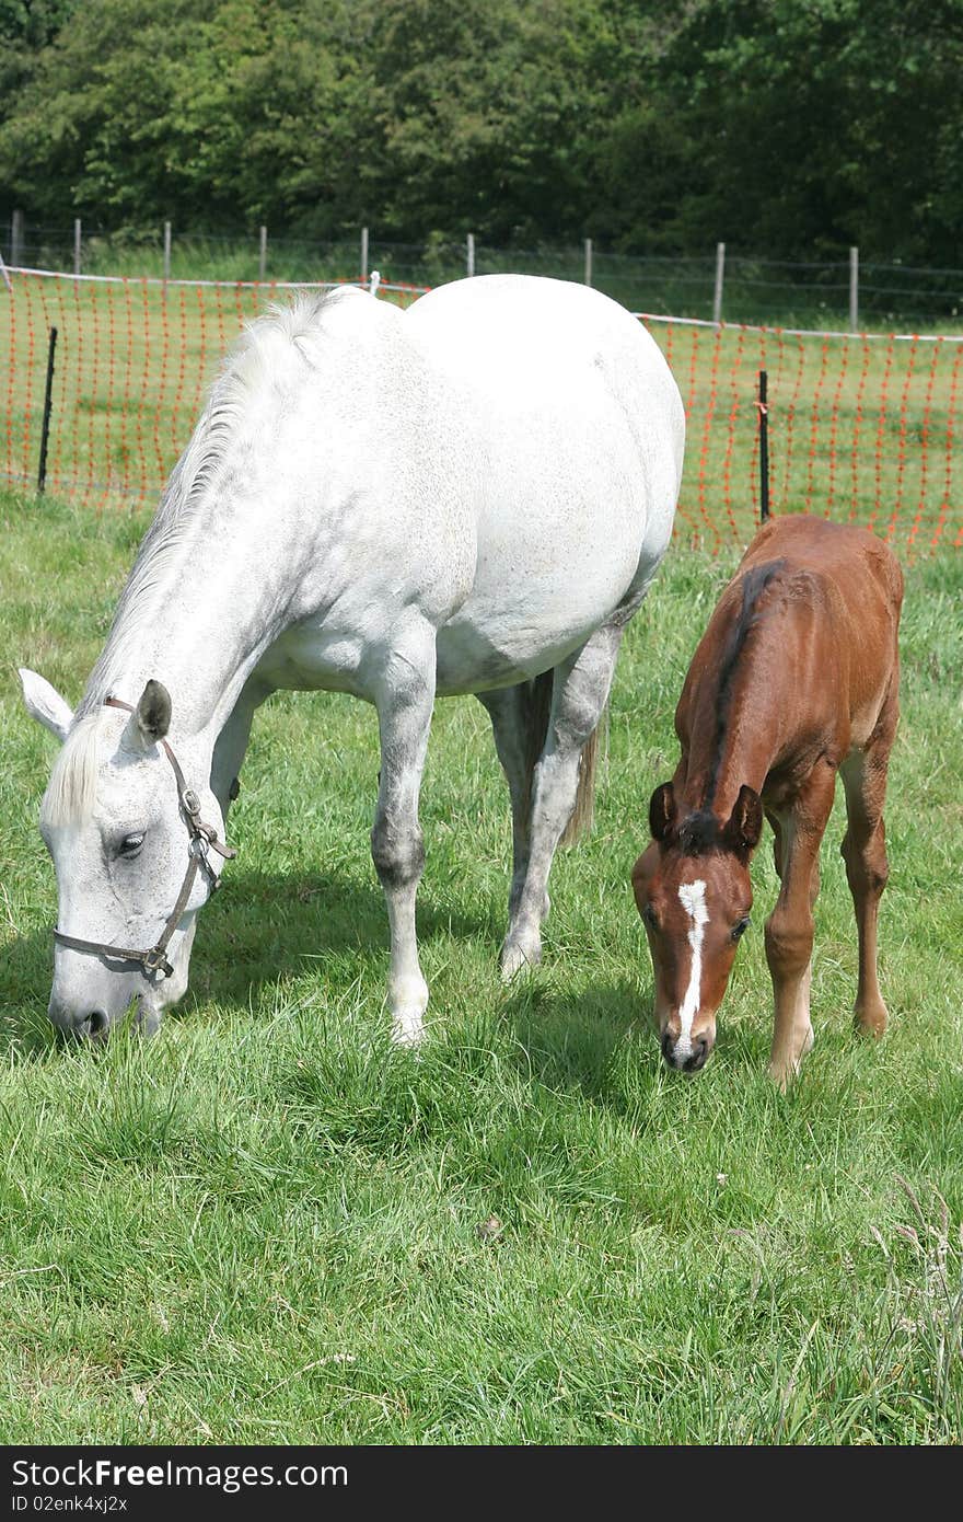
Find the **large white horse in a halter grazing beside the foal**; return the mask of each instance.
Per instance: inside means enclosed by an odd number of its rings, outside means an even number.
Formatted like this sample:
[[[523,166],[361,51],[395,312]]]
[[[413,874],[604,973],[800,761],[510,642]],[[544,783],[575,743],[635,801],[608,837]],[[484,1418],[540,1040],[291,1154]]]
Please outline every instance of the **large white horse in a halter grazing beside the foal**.
[[[427,1005],[415,892],[437,694],[475,693],[491,715],[514,837],[502,970],[536,963],[622,630],[669,542],[683,437],[654,341],[581,286],[493,275],[408,312],[348,289],[253,323],[76,712],[21,673],[64,741],[41,808],[55,1024],[105,1035],[135,1000],[154,1030],[184,994],[251,718],[278,688],[377,709],[396,1040],[421,1036]]]

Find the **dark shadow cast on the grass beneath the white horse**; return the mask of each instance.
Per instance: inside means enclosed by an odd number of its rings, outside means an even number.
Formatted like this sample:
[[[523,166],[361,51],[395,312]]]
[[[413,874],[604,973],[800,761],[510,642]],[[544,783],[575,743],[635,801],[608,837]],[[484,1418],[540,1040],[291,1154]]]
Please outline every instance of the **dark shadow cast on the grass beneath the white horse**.
[[[309,959],[344,951],[359,957],[388,953],[388,915],[377,881],[332,872],[233,871],[224,892],[201,910],[190,959],[190,986],[180,1012],[201,998],[239,1003],[284,974],[303,973]],[[443,909],[431,884],[418,893],[418,939],[437,935],[491,936],[494,906],[478,913]],[[497,942],[493,939],[493,956]],[[53,968],[50,933],[20,936],[0,957],[0,1056],[26,1058],[58,1050],[47,1021]],[[193,997],[192,997],[193,995]]]

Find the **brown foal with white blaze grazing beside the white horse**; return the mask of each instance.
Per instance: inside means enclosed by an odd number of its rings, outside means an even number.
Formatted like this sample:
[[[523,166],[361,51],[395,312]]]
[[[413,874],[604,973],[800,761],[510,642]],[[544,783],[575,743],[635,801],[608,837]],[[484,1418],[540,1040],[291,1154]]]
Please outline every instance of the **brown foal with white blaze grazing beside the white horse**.
[[[855,1020],[872,1035],[885,1030],[876,915],[888,875],[882,805],[899,717],[901,604],[902,572],[879,539],[808,516],[767,524],[723,592],[675,709],[682,759],[653,793],[653,843],[631,874],[671,1067],[695,1071],[715,1043],[764,813],[782,883],[765,925],[771,1076],[785,1085],[812,1046],[812,907],[837,772],[860,938]]]

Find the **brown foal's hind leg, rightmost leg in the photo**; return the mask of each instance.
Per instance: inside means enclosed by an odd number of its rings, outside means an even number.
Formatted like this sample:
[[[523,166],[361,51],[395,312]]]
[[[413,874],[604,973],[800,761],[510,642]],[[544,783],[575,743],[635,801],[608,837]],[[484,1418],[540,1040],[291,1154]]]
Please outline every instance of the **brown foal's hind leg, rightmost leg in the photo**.
[[[893,689],[866,750],[855,750],[840,767],[849,820],[841,852],[860,938],[860,980],[853,1017],[858,1029],[873,1036],[881,1036],[887,1024],[887,1009],[876,974],[876,921],[879,900],[890,875],[882,805],[898,714]]]

